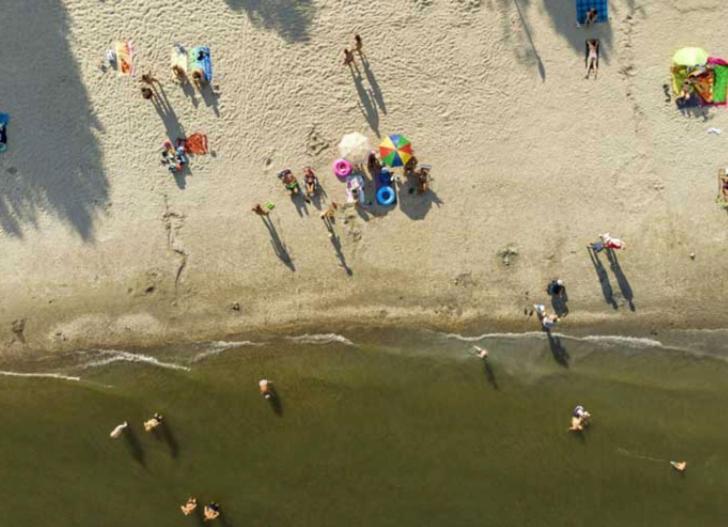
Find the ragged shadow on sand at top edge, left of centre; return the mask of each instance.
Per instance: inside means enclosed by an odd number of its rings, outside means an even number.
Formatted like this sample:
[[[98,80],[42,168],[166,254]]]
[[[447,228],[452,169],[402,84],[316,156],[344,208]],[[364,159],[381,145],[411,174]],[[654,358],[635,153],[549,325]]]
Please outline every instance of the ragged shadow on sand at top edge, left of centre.
[[[276,31],[288,42],[309,39],[309,26],[316,15],[311,0],[225,0],[235,11],[244,11],[253,25]]]

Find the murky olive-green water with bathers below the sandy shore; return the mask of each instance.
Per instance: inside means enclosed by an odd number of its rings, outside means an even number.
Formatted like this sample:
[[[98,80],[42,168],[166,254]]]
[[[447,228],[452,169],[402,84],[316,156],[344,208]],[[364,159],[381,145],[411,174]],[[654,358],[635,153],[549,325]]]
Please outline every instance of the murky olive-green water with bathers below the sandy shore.
[[[726,334],[372,330],[15,360],[0,524],[202,524],[179,510],[196,496],[227,526],[724,525]]]

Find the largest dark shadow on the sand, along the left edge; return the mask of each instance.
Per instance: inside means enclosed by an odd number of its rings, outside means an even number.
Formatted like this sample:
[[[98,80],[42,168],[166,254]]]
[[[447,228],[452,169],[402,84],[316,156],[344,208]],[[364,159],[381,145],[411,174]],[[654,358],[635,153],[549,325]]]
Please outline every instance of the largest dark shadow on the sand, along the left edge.
[[[85,242],[109,201],[95,134],[103,127],[68,41],[60,0],[2,2],[0,111],[10,114],[0,155],[0,229],[22,237],[50,213]]]

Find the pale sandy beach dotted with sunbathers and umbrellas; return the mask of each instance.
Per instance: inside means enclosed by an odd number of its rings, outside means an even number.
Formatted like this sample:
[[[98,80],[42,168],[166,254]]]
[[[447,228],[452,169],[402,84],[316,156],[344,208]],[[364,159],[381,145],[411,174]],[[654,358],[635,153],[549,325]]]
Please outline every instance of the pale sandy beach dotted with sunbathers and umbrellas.
[[[728,323],[728,215],[714,202],[728,114],[680,111],[662,88],[680,47],[728,57],[724,2],[617,0],[590,29],[562,0],[0,0],[0,12],[5,353],[291,326],[533,329],[524,308],[547,303],[555,277],[563,331]],[[358,73],[342,64],[355,33]],[[601,42],[597,80],[584,80],[586,38]],[[100,68],[120,39],[136,79]],[[210,46],[217,96],[175,84],[175,42]],[[164,118],[139,94],[147,71]],[[434,180],[391,210],[340,212],[338,247],[276,174],[311,166],[343,202],[330,167],[354,131],[372,145],[407,135]],[[161,144],[193,132],[211,153],[174,178]],[[250,211],[268,200],[286,262]],[[627,249],[597,269],[586,246],[606,231]]]

